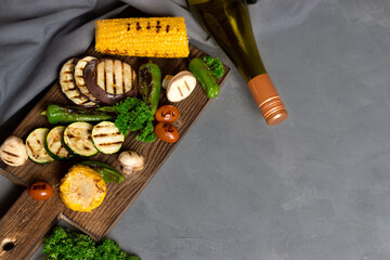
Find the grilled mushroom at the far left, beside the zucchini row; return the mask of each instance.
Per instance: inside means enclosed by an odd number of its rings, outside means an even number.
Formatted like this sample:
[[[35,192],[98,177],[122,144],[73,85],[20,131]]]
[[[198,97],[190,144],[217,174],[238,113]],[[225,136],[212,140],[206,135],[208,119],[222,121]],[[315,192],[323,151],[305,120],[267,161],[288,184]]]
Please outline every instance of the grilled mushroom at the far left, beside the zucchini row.
[[[27,160],[27,150],[22,139],[9,136],[0,146],[0,158],[10,166],[21,166]]]

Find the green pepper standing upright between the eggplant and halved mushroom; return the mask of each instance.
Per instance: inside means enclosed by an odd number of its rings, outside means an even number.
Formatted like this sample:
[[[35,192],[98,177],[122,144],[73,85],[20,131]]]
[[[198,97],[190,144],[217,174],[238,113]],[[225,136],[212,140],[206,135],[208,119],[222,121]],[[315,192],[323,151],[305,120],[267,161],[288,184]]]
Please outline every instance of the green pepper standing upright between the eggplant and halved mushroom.
[[[142,100],[150,106],[154,115],[158,107],[161,90],[161,70],[157,64],[148,62],[140,66],[138,88]]]

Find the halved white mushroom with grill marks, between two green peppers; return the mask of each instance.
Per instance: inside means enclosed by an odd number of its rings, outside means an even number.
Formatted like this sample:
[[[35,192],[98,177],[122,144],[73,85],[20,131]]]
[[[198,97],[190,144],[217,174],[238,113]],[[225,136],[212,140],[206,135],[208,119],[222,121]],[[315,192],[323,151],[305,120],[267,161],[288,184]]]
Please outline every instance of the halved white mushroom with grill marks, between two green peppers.
[[[167,86],[167,99],[170,102],[179,102],[186,99],[195,89],[196,78],[188,70],[183,70],[174,77],[167,75],[162,86]]]

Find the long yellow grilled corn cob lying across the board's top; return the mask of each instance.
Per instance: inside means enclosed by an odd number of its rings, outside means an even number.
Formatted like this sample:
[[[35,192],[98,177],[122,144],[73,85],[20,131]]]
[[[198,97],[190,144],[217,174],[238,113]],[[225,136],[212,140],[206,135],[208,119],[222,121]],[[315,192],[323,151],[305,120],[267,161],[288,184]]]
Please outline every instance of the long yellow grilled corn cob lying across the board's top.
[[[104,54],[186,57],[184,17],[118,18],[95,23],[95,49]]]

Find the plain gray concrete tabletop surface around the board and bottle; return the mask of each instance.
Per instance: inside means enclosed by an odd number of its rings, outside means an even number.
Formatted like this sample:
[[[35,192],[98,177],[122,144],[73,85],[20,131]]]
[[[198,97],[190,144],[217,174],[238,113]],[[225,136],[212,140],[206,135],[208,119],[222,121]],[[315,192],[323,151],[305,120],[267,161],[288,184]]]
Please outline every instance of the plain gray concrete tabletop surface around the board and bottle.
[[[259,38],[289,119],[268,127],[233,69],[108,237],[143,260],[390,259],[389,14],[327,0]],[[1,210],[18,193],[0,176]]]

